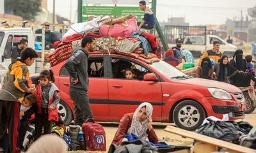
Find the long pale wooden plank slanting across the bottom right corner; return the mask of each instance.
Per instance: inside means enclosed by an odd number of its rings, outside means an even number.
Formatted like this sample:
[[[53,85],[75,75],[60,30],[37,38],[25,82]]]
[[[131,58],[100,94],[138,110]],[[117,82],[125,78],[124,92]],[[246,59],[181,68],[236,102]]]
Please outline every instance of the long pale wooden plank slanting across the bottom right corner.
[[[225,142],[223,140],[218,140],[216,138],[212,138],[209,136],[205,136],[205,135],[200,135],[198,133],[195,132],[191,132],[191,131],[187,131],[184,129],[180,129],[180,128],[176,128],[173,126],[167,126],[164,131],[167,131],[169,133],[174,133],[176,135],[180,135],[182,137],[185,138],[191,138],[193,140],[196,140],[198,142],[203,142],[203,143],[209,143],[212,145],[216,145],[217,147],[221,147],[221,148],[225,148],[228,150],[233,150],[236,152],[241,152],[241,153],[255,153],[256,150],[247,148],[247,147],[243,147],[241,145],[236,145],[233,143],[229,143],[229,142]]]

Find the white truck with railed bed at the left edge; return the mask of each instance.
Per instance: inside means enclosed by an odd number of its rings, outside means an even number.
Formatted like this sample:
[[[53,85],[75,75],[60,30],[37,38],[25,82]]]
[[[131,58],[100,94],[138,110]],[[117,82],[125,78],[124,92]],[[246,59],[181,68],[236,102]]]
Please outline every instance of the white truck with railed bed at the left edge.
[[[22,26],[25,26],[24,24]],[[36,62],[29,67],[29,73],[38,73],[43,69],[45,52],[44,49],[44,30],[42,34],[35,34],[36,29],[42,28],[44,25],[30,25],[30,27],[21,27],[17,25],[16,27],[0,27],[0,69],[7,69],[11,64],[11,47],[17,46],[17,44],[26,38],[28,40],[28,47],[35,49],[35,38],[36,36],[42,36],[42,42],[37,42],[42,45],[42,50],[36,50],[38,52],[39,58],[36,59]],[[68,25],[51,25],[52,29],[61,29],[65,31],[68,28]],[[44,28],[43,28],[44,29]],[[1,76],[1,81],[3,81],[3,76]],[[1,83],[1,82],[0,82]]]

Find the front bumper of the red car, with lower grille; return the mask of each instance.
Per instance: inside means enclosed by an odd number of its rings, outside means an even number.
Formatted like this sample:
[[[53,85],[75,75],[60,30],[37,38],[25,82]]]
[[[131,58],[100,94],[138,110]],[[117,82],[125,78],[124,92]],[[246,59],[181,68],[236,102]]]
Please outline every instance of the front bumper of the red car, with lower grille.
[[[215,99],[212,97],[205,97],[199,100],[199,102],[204,106],[207,116],[214,116],[222,119],[224,113],[228,113],[230,120],[244,119],[244,110],[246,105],[244,98],[236,101],[233,100],[223,100]]]

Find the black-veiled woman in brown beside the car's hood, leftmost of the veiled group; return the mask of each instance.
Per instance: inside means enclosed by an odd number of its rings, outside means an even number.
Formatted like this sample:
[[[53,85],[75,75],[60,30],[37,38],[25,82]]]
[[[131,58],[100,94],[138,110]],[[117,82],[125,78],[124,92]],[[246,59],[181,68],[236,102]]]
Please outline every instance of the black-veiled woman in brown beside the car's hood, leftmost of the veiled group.
[[[205,79],[214,80],[213,71],[214,71],[214,68],[212,66],[211,59],[208,56],[204,57],[200,66],[198,66],[196,69],[196,78],[205,78]]]

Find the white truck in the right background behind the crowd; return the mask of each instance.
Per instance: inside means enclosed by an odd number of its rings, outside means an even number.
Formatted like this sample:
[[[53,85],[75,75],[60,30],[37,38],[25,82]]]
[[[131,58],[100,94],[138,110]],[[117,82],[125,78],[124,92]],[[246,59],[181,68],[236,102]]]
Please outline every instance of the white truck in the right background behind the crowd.
[[[213,41],[220,42],[220,51],[228,57],[232,57],[237,49],[235,45],[214,35],[214,31],[207,31],[204,26],[165,25],[164,36],[169,47],[174,47],[175,40],[181,38],[182,48],[190,50],[195,57],[200,57],[206,50],[211,49]]]

